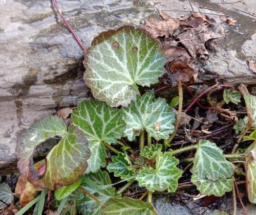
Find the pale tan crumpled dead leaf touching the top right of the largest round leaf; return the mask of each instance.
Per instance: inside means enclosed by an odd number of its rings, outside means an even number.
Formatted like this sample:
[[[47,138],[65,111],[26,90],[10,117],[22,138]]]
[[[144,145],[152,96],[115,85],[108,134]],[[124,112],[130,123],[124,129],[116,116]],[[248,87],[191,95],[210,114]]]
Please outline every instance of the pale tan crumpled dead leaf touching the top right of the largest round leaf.
[[[160,21],[151,18],[145,20],[144,25],[141,28],[150,33],[153,38],[170,38],[173,36],[173,33],[178,30],[179,22],[176,19],[171,18]]]

